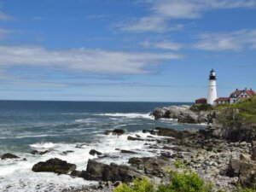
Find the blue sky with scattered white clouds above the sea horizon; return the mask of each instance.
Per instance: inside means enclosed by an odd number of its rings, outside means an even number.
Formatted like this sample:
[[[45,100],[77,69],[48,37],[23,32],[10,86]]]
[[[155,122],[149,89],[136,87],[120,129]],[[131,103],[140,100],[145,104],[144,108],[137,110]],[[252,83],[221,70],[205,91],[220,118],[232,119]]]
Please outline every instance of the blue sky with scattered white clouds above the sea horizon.
[[[256,0],[0,0],[0,99],[194,102],[256,89]]]

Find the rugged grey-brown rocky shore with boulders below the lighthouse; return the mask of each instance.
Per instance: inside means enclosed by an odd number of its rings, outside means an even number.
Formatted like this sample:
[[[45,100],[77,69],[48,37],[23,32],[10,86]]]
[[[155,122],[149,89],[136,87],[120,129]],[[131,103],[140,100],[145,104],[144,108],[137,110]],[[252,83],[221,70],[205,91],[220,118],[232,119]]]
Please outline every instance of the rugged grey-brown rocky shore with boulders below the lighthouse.
[[[65,160],[50,159],[32,166],[33,172],[55,172],[70,177],[82,177],[85,180],[98,181],[98,184],[84,186],[82,189],[64,189],[63,192],[102,191],[108,192],[122,183],[131,183],[135,178],[149,177],[154,183],[166,183],[169,180],[167,170],[176,169],[180,162],[185,169],[191,169],[206,182],[212,182],[214,189],[232,191],[238,185],[252,187],[256,183],[256,142],[254,137],[231,137],[222,134],[224,125],[218,124],[218,112],[195,112],[188,106],[156,108],[154,118],[178,119],[182,123],[206,123],[209,126],[199,131],[177,131],[156,127],[143,130],[146,137],[127,136],[131,142],[143,142],[152,156],[131,157],[125,165],[113,162],[109,165],[101,162],[111,155],[104,151],[90,150],[95,158],[87,163],[86,170],[76,170],[76,165]],[[234,116],[234,114],[232,114]],[[234,131],[234,129],[232,130]],[[105,131],[108,137],[126,134],[125,130]],[[231,135],[232,135],[231,134]],[[229,137],[227,137],[229,136]],[[229,139],[227,139],[229,138]],[[136,154],[134,151],[116,148],[119,153]],[[47,152],[32,152],[44,155]],[[69,152],[67,152],[69,153]],[[72,152],[70,152],[72,153]],[[2,159],[18,159],[15,154],[3,154]]]

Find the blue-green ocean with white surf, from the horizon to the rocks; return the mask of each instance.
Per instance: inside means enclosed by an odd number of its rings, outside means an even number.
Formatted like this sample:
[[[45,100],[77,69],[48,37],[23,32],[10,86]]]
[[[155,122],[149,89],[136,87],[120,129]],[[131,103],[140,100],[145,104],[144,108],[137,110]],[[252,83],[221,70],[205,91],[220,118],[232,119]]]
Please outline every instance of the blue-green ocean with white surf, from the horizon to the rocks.
[[[0,155],[16,154],[18,160],[0,160],[0,191],[61,191],[79,188],[93,182],[49,172],[32,172],[38,161],[59,158],[85,170],[89,154],[96,149],[111,157],[104,163],[125,164],[131,156],[153,156],[141,141],[128,141],[127,136],[143,134],[143,129],[156,126],[201,129],[204,125],[179,124],[176,119],[154,120],[154,108],[191,103],[177,102],[36,102],[0,101]],[[124,129],[120,137],[102,132]],[[82,148],[77,148],[81,146]],[[136,151],[120,154],[116,148]],[[49,153],[31,154],[32,150]],[[72,153],[63,153],[73,151]],[[26,158],[26,160],[23,160]]]

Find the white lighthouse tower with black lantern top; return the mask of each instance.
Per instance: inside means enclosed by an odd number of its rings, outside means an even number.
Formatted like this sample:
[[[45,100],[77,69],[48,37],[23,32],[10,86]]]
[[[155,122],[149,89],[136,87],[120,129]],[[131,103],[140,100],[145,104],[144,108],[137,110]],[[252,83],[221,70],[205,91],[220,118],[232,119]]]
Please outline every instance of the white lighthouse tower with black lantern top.
[[[209,75],[209,90],[207,103],[213,105],[214,101],[217,99],[217,89],[216,89],[216,73],[212,69]]]

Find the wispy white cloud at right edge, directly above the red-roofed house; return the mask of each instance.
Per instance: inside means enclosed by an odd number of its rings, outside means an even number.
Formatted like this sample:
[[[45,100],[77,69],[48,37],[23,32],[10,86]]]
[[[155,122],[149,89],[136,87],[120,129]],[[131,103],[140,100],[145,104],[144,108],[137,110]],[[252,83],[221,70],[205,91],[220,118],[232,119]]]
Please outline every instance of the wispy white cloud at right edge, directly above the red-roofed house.
[[[256,30],[204,33],[198,38],[200,41],[193,45],[195,49],[212,51],[256,49]]]

